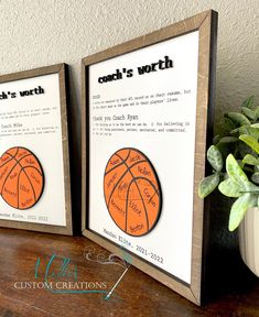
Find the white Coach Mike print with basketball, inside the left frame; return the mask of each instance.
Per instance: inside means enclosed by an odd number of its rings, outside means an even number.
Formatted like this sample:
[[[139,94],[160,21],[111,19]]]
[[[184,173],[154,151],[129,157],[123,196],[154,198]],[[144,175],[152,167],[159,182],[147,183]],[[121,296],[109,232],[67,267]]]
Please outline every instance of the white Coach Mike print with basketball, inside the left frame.
[[[60,76],[43,72],[0,84],[1,220],[69,225]]]

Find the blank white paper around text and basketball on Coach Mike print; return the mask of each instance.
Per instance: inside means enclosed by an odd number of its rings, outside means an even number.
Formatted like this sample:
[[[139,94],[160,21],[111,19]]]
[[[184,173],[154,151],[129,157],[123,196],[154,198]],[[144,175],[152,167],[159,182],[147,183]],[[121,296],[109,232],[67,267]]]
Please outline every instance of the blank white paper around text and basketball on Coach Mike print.
[[[41,86],[45,94],[19,97],[19,91],[37,86]],[[0,219],[66,226],[58,74],[1,84],[0,94],[2,91],[15,91],[17,98],[0,100],[0,112],[13,113],[20,110],[50,108],[51,114],[0,119],[0,134],[6,130],[4,124],[17,122],[22,123],[24,129],[55,127],[56,132],[41,135],[0,136],[0,155],[12,146],[24,146],[36,155],[45,176],[43,194],[36,205],[30,209],[14,209],[0,197]],[[2,216],[4,214],[10,215],[11,218]],[[18,216],[23,218],[18,218]],[[47,217],[47,220],[44,217]]]

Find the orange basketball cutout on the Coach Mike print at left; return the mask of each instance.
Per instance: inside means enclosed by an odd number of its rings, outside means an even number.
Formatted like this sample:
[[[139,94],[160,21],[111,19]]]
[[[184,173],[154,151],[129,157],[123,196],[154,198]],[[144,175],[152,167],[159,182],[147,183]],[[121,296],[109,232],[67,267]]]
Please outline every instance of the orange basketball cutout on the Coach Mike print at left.
[[[33,207],[40,199],[44,175],[36,156],[24,147],[12,147],[0,157],[0,194],[15,209]]]

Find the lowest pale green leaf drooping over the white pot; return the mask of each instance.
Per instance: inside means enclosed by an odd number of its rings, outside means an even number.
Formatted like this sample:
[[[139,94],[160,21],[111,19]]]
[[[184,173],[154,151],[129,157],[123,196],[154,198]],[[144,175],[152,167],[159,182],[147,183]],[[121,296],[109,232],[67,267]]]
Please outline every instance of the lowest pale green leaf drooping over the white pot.
[[[234,204],[228,222],[229,231],[237,229],[248,208],[257,206],[257,195],[244,194]]]

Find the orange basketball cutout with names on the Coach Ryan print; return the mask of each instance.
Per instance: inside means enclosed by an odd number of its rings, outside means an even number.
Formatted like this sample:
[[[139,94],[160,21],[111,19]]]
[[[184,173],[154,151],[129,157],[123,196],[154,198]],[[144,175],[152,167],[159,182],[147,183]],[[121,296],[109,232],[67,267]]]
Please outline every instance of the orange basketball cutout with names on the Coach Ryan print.
[[[162,197],[158,175],[139,150],[120,149],[109,158],[104,177],[107,209],[127,234],[140,237],[157,225]]]

